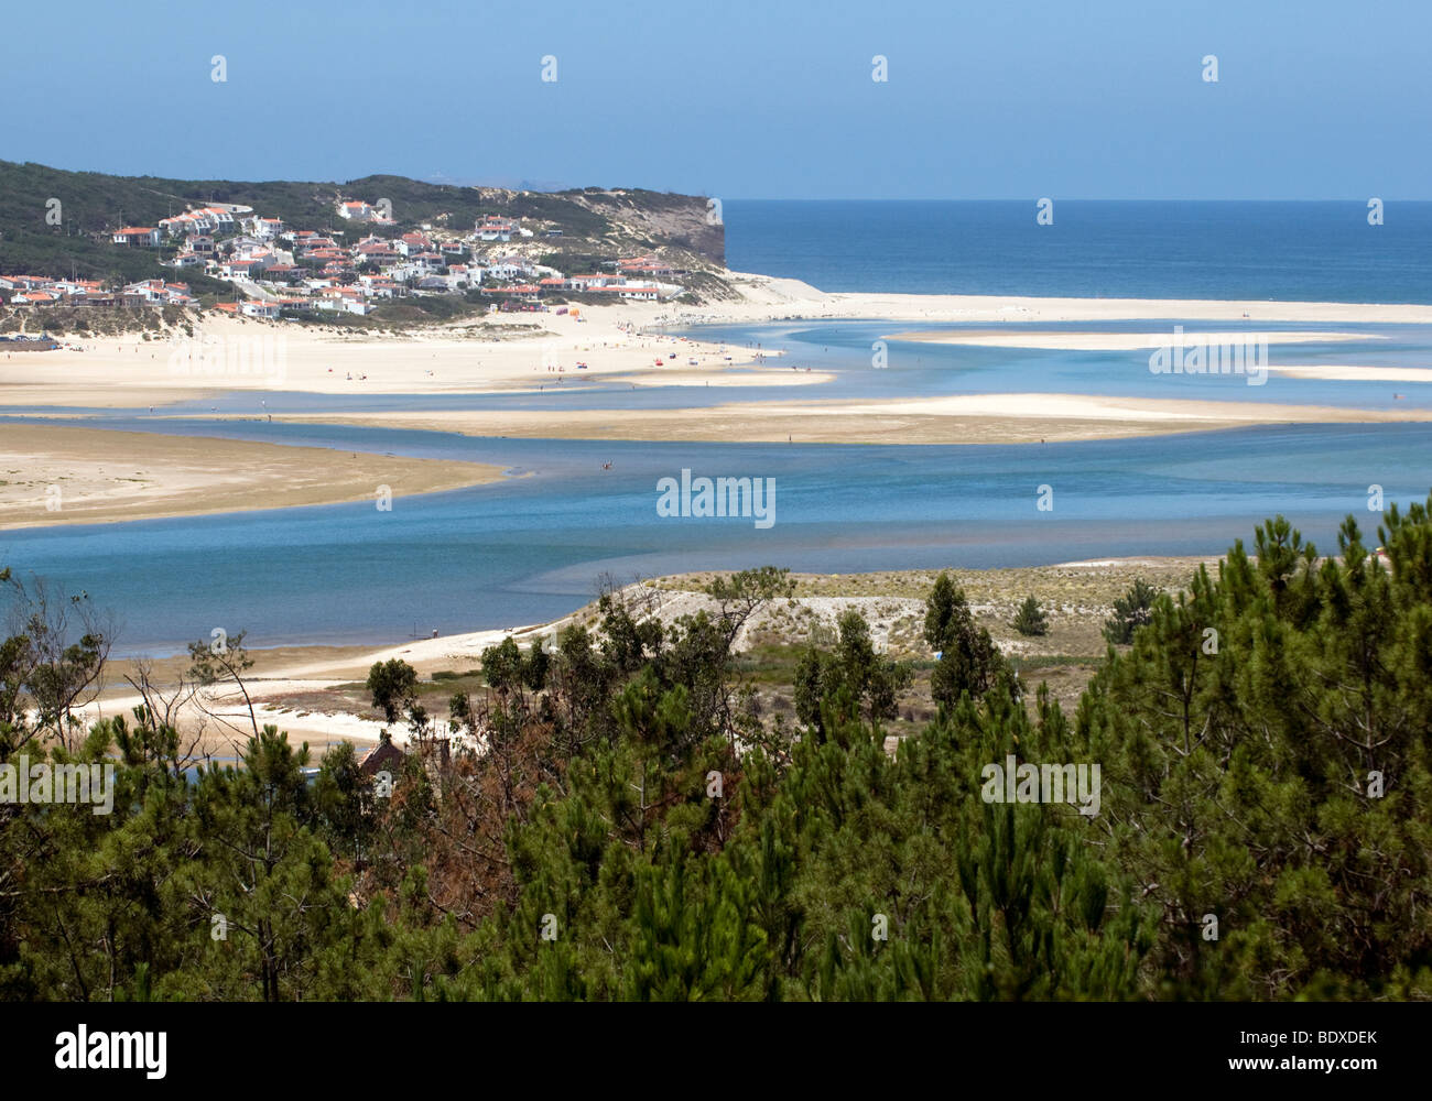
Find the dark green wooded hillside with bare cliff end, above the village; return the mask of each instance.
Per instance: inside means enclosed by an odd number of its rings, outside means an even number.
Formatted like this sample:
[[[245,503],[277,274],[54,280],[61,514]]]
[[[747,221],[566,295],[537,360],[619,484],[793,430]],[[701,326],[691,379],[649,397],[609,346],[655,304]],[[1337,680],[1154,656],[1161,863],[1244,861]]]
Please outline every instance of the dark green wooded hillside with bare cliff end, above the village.
[[[355,238],[371,226],[338,218],[339,199],[392,205],[391,233],[430,223],[454,233],[471,231],[484,215],[523,219],[536,236],[523,239],[543,255],[561,256],[580,268],[584,261],[653,252],[697,271],[725,263],[725,232],[706,223],[706,200],[642,189],[586,188],[526,192],[422,183],[404,176],[365,176],[338,182],[178,180],[159,176],[110,176],[67,172],[34,163],[0,160],[0,275],[50,275],[133,282],[163,275],[165,249],[110,243],[126,225],[158,225],[189,206],[251,206],[289,226]],[[47,220],[59,199],[59,225]],[[543,236],[560,231],[560,236]],[[518,241],[514,238],[514,245]],[[536,246],[540,243],[540,249]],[[172,272],[170,272],[172,278]],[[186,276],[196,291],[219,292],[222,283]]]

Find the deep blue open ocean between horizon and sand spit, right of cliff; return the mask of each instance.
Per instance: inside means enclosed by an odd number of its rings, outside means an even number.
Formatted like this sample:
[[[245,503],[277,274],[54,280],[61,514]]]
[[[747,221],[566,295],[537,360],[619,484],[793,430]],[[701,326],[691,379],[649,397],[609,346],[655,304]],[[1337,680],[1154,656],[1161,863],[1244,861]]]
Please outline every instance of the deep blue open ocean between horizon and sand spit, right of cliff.
[[[822,291],[1432,302],[1432,202],[727,200],[726,265]]]

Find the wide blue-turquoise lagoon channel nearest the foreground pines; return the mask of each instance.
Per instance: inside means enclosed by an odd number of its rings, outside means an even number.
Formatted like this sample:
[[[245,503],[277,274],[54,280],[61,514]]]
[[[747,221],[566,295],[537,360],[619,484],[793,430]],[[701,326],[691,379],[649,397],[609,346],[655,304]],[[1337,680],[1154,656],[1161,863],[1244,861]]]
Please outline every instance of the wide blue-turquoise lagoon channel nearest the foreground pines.
[[[179,428],[500,462],[503,482],[374,504],[0,533],[0,561],[115,613],[122,651],[213,627],[253,646],[384,643],[564,614],[594,578],[1032,566],[1204,554],[1283,513],[1332,547],[1368,485],[1423,500],[1432,425],[1306,425],[1018,447],[799,447],[473,440],[279,424]],[[611,462],[613,470],[601,470]],[[776,481],[775,525],[660,518],[656,482]],[[1054,510],[1035,507],[1040,485]],[[1375,530],[1375,525],[1373,525]]]

